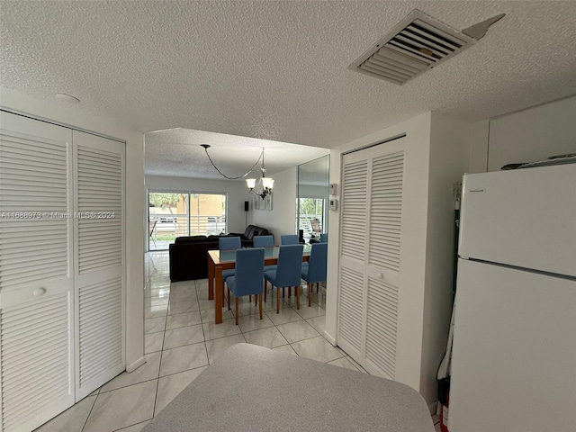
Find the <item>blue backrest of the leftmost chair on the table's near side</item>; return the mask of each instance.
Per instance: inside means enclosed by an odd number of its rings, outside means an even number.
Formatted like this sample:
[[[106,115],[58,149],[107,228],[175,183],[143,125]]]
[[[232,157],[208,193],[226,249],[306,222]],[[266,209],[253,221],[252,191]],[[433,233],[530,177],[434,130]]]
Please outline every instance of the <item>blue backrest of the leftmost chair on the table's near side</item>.
[[[236,251],[234,282],[234,293],[238,297],[264,291],[264,249],[262,247]]]

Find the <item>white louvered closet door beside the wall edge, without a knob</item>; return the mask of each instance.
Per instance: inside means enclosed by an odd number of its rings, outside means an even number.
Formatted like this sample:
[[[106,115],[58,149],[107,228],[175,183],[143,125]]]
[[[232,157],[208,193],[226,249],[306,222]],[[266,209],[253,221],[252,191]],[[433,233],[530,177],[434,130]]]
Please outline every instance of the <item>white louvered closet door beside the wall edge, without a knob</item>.
[[[74,131],[76,400],[124,368],[124,144]]]

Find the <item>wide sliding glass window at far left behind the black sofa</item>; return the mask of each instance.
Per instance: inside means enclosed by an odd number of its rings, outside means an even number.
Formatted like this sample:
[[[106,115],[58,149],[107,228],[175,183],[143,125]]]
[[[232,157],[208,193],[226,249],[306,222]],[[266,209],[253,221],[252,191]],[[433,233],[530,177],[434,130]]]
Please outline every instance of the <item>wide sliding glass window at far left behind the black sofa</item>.
[[[166,250],[176,237],[226,231],[226,194],[148,192],[148,250]]]

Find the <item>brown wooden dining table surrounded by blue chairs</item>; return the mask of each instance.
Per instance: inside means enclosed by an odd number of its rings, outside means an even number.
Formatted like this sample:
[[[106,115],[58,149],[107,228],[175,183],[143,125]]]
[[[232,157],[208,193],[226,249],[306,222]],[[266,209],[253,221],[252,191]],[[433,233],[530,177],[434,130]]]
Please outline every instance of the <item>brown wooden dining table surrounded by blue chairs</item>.
[[[302,262],[310,260],[311,245],[304,245]],[[264,265],[278,264],[280,247],[264,247]],[[209,250],[208,251],[208,299],[214,300],[214,322],[222,322],[222,306],[224,305],[224,281],[222,270],[236,267],[236,250]]]

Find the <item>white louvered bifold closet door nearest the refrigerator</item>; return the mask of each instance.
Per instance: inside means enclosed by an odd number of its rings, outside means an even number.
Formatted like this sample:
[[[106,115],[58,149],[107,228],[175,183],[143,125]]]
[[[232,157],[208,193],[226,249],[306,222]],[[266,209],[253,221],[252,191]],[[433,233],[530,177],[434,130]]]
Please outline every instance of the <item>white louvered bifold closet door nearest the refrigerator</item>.
[[[342,168],[338,346],[394,379],[401,272],[403,139],[347,154]]]

